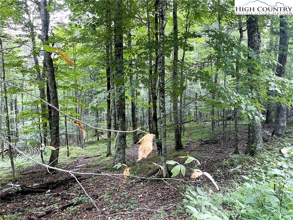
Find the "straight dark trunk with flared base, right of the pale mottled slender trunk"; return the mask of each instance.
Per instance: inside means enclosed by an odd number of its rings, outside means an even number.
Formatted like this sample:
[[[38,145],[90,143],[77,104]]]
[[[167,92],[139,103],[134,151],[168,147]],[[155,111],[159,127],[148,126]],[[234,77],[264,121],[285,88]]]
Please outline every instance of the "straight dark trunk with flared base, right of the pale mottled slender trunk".
[[[178,115],[178,22],[177,22],[177,1],[173,0],[173,31],[174,31],[174,52],[173,52],[173,78],[172,78],[172,100],[174,115],[175,150],[183,148],[181,135],[179,133]],[[170,109],[171,111],[171,109]],[[171,117],[171,116],[170,116]]]

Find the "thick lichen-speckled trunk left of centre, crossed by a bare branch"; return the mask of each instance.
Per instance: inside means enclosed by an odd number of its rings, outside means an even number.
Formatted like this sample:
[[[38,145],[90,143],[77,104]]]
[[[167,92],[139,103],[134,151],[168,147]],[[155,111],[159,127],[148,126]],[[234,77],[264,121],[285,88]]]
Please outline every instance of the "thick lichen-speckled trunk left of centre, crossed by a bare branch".
[[[114,48],[115,48],[115,79],[117,95],[117,124],[119,131],[126,130],[125,122],[125,88],[123,61],[123,25],[121,7],[122,1],[115,1],[114,11]],[[126,135],[119,133],[115,146],[114,163],[125,163]]]

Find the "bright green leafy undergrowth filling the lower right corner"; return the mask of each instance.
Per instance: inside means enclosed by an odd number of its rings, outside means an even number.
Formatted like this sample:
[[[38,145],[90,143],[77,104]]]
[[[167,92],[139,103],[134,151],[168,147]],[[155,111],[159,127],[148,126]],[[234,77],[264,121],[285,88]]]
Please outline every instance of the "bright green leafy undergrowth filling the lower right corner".
[[[282,138],[273,138],[254,157],[230,155],[222,166],[242,165],[237,169],[242,175],[236,178],[233,186],[220,189],[220,193],[188,188],[184,202],[193,217],[197,220],[292,220],[293,155],[284,156],[280,152],[284,147],[292,149],[291,126],[288,131]]]

